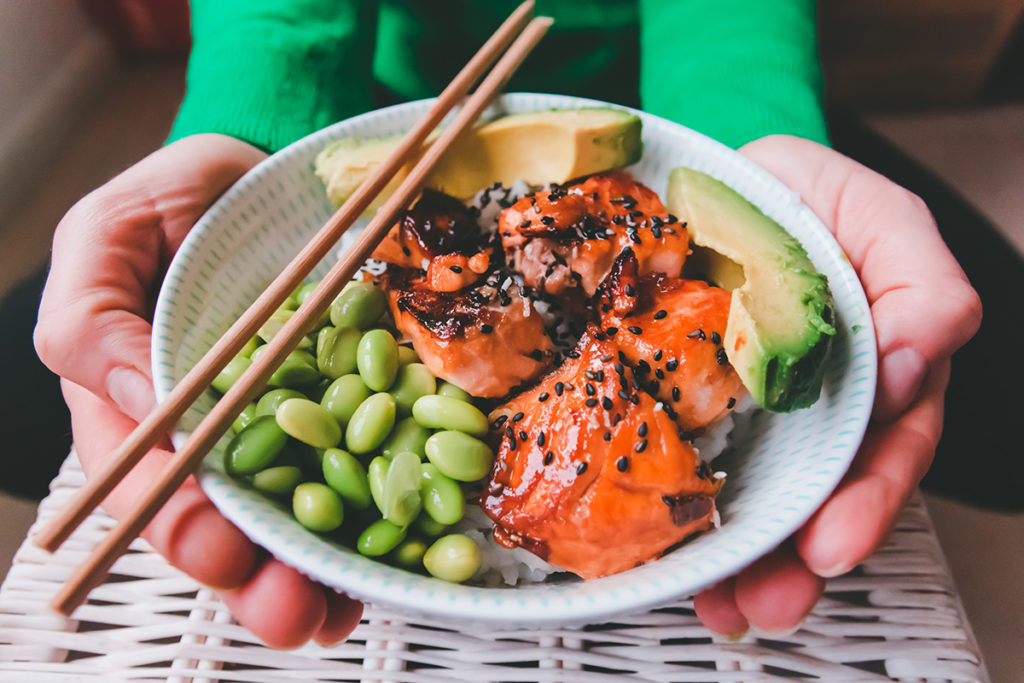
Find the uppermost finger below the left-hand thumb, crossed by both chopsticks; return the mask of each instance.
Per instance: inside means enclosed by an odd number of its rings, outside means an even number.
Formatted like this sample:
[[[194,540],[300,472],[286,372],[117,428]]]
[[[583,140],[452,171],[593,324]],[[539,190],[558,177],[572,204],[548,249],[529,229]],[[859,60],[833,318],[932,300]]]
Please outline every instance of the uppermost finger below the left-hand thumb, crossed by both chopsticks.
[[[63,382],[63,392],[71,409],[75,447],[89,475],[135,424],[71,382]],[[170,457],[167,451],[152,451],[111,492],[103,509],[116,518],[126,515],[141,492],[159,478]],[[168,562],[208,586],[244,586],[255,568],[256,547],[217,512],[191,478],[175,492],[142,536]]]

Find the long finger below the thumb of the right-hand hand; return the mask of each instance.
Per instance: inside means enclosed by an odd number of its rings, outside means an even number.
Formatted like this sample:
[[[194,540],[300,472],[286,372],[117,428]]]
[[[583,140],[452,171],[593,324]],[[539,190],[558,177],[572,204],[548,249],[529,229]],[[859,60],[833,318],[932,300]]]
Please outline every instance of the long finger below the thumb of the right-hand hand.
[[[935,456],[949,362],[929,375],[918,402],[897,421],[873,426],[850,472],[797,535],[797,549],[819,577],[837,577],[885,541]]]

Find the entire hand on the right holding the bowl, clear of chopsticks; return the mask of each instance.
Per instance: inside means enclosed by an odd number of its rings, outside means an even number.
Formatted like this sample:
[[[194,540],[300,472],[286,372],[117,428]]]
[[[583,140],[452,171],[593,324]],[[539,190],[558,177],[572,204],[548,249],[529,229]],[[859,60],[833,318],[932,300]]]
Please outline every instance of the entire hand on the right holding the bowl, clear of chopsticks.
[[[740,153],[795,189],[836,236],[871,306],[879,384],[850,471],[794,539],[694,598],[713,631],[788,631],[824,579],[885,540],[931,465],[942,432],[949,357],[978,331],[981,301],[916,196],[814,142],[774,135]]]

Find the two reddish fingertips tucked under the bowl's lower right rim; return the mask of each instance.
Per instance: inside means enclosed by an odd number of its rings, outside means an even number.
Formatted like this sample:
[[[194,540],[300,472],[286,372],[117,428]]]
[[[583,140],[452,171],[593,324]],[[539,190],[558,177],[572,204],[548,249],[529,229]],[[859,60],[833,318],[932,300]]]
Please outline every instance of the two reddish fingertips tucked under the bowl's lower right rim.
[[[751,627],[779,633],[800,626],[824,585],[785,544],[694,596],[693,607],[705,626],[722,635],[739,637]]]

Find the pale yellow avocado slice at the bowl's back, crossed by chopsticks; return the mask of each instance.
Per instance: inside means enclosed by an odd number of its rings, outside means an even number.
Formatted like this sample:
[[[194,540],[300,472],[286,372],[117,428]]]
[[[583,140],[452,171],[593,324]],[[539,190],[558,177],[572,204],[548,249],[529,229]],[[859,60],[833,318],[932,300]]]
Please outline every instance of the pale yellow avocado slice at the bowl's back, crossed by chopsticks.
[[[460,199],[495,182],[565,182],[640,159],[640,118],[610,108],[514,114],[467,131],[441,157],[427,186]],[[428,139],[429,144],[436,135]],[[328,197],[341,205],[397,146],[400,137],[346,138],[327,145],[314,168]],[[414,159],[371,206],[377,209],[408,175]]]

